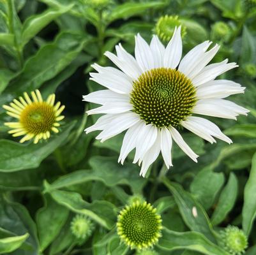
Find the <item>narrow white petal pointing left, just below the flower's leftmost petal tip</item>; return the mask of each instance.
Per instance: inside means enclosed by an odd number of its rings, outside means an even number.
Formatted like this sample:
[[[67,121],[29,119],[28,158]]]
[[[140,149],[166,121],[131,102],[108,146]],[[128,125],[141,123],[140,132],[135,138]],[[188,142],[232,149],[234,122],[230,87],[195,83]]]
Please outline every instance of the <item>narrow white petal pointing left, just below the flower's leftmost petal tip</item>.
[[[130,103],[107,103],[98,108],[91,109],[86,113],[88,115],[100,114],[100,113],[123,113],[132,110],[132,105]]]

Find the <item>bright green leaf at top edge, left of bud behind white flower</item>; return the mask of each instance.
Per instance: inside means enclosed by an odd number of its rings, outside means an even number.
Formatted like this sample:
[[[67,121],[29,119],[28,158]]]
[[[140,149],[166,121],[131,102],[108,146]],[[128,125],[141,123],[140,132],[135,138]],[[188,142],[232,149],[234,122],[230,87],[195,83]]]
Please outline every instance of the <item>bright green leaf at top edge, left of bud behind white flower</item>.
[[[150,8],[162,8],[165,3],[151,1],[147,3],[124,3],[118,5],[111,13],[108,13],[106,17],[108,22],[112,22],[119,18],[129,18],[134,15],[144,15],[145,11]]]

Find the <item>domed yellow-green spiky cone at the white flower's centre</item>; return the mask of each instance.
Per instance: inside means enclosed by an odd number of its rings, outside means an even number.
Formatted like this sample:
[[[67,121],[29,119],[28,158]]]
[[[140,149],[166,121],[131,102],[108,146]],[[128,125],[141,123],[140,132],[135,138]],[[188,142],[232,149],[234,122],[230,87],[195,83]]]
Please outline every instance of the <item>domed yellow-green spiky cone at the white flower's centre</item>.
[[[171,68],[155,68],[133,82],[133,112],[146,124],[158,128],[176,127],[192,113],[197,99],[195,87],[183,73]]]

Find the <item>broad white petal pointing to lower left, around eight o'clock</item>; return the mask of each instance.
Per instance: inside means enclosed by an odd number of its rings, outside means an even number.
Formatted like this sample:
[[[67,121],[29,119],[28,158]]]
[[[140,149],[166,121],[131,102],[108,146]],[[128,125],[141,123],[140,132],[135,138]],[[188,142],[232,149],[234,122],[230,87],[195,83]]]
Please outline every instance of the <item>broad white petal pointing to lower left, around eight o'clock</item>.
[[[136,113],[126,112],[116,114],[115,118],[112,119],[109,124],[103,129],[102,133],[96,136],[96,139],[104,142],[105,140],[122,133],[124,130],[132,127],[140,118]]]

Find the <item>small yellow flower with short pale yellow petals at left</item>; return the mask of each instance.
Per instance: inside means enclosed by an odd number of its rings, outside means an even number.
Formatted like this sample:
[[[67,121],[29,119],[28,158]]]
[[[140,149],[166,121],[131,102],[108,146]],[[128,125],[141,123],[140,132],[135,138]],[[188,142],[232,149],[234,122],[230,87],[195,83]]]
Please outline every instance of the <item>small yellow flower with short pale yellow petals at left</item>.
[[[32,100],[31,100],[32,98]],[[64,119],[61,112],[64,105],[60,102],[54,105],[55,94],[51,94],[46,101],[43,101],[40,91],[32,91],[31,98],[24,92],[19,99],[14,99],[10,105],[3,105],[7,114],[16,118],[17,122],[6,122],[4,125],[11,128],[8,133],[12,136],[24,136],[20,143],[34,139],[38,143],[40,139],[50,138],[50,132],[58,133],[59,121]]]

